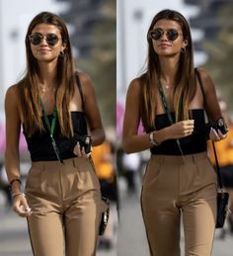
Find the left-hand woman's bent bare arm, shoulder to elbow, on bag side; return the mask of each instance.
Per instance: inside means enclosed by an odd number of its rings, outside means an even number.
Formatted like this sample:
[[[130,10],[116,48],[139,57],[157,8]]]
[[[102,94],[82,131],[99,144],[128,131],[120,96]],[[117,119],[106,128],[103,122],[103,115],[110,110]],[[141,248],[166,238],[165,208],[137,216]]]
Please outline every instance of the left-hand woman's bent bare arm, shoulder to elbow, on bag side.
[[[105,141],[105,130],[103,128],[94,86],[86,74],[79,73],[79,78],[84,96],[84,110],[92,137],[92,145],[100,145]]]

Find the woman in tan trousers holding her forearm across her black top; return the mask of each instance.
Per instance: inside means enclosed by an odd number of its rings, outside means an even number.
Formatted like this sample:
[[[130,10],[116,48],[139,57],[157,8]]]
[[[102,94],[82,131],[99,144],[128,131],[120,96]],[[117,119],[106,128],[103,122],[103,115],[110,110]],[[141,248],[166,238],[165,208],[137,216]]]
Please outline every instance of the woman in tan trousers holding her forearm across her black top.
[[[189,24],[180,13],[159,12],[147,41],[147,71],[127,91],[122,145],[126,153],[151,151],[141,194],[150,253],[180,255],[182,214],[186,256],[207,256],[214,234],[216,175],[206,156],[204,109],[211,121],[221,118],[214,85],[205,70],[198,70],[204,99],[195,77]],[[137,133],[140,120],[146,133]],[[211,129],[209,136],[217,141],[225,135]]]

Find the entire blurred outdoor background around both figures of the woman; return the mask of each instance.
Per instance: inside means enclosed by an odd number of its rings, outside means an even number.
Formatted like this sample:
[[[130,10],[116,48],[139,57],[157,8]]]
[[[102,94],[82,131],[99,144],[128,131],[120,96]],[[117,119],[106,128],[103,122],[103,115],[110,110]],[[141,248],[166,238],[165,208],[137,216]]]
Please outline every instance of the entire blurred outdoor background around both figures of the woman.
[[[68,25],[76,67],[94,82],[107,132],[107,141],[93,150],[102,193],[112,202],[110,224],[105,236],[100,237],[98,255],[149,255],[139,205],[149,152],[125,155],[120,140],[127,86],[144,68],[148,25],[165,8],[178,10],[188,18],[195,66],[206,68],[216,85],[230,130],[217,151],[232,202],[233,0],[0,0],[0,255],[32,255],[26,223],[10,210],[4,172],[4,97],[25,70],[26,30],[40,11],[57,13]],[[26,177],[29,153],[23,135],[20,150],[21,171]],[[214,165],[211,147],[209,150]],[[232,238],[233,218],[229,214],[224,229],[216,232],[213,256],[230,255]]]

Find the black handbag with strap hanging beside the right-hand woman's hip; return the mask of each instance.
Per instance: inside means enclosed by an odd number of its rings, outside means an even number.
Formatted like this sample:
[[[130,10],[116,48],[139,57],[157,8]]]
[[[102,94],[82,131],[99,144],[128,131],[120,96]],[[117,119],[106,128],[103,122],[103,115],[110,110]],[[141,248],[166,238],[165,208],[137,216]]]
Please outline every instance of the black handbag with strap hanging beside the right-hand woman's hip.
[[[213,153],[215,157],[217,181],[218,181],[218,187],[219,187],[219,190],[217,192],[217,215],[216,215],[215,227],[221,228],[224,225],[226,215],[228,212],[229,193],[223,190],[221,173],[220,173],[219,164],[217,160],[216,148],[213,141],[212,141],[212,146],[213,146]]]

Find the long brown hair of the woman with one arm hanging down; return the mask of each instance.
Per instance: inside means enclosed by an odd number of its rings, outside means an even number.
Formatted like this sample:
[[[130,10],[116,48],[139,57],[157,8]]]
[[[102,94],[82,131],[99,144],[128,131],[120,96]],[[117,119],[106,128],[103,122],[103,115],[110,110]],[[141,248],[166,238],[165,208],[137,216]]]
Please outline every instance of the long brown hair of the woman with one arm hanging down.
[[[69,113],[69,102],[74,95],[75,89],[71,44],[68,30],[63,20],[59,16],[49,12],[41,12],[33,19],[25,38],[27,70],[25,77],[18,83],[20,109],[24,127],[29,136],[37,130],[43,130],[39,105],[39,64],[33,55],[29,40],[29,36],[32,34],[34,28],[42,23],[56,26],[60,31],[62,43],[66,44],[64,54],[59,55],[57,60],[55,104],[61,134],[70,136],[73,133],[73,129]]]

